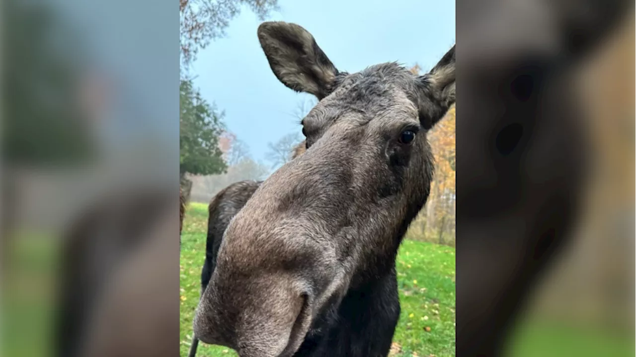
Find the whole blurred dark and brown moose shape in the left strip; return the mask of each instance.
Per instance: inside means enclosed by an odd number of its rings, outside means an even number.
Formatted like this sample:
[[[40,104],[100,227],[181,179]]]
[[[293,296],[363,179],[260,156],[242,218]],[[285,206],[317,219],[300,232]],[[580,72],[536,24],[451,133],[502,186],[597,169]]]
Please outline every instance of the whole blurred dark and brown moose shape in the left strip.
[[[178,285],[178,279],[165,278],[174,266],[156,264],[174,257],[170,252],[177,247],[175,196],[167,188],[125,186],[90,201],[64,232],[55,356],[156,356],[170,350],[176,342],[171,336],[179,331],[171,323],[174,295],[156,293],[148,299],[145,294],[151,288],[158,292]],[[139,309],[140,304],[146,309]],[[127,323],[112,328],[112,320]],[[139,326],[146,323],[145,328]],[[149,343],[158,335],[159,342]]]

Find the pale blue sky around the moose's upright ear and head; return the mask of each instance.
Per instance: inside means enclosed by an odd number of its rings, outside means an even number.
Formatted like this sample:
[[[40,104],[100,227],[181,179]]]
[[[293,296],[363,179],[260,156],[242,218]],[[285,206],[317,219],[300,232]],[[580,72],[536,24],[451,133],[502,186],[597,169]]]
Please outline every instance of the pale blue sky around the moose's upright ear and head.
[[[267,20],[307,29],[340,71],[392,61],[417,62],[427,71],[455,43],[452,0],[279,0],[279,6]],[[268,142],[300,135],[293,113],[308,95],[295,93],[272,73],[256,36],[260,23],[244,8],[226,37],[198,53],[191,74],[205,100],[225,112],[228,130],[249,145],[254,159],[265,161]]]

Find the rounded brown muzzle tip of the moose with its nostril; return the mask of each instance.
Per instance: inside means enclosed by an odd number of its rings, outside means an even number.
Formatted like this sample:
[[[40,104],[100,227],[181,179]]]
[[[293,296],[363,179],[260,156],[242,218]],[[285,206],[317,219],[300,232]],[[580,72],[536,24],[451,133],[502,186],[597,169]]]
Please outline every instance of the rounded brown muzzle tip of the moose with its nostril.
[[[195,313],[195,336],[241,357],[291,356],[311,323],[312,295],[286,274],[214,274]]]

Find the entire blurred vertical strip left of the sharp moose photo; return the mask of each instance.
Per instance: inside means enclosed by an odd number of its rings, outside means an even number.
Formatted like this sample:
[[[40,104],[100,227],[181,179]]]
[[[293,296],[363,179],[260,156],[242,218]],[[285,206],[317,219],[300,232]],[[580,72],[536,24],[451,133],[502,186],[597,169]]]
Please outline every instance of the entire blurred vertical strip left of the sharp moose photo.
[[[172,7],[0,2],[0,356],[178,354],[178,53],[130,46]]]

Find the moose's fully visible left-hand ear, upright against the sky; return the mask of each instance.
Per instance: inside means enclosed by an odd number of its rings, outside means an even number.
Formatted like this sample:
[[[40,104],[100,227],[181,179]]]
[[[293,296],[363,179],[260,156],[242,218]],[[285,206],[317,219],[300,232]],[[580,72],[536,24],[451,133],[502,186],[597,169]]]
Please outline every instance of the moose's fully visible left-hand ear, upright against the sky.
[[[307,30],[286,22],[263,22],[258,40],[272,71],[287,87],[318,100],[331,93],[338,70]]]

